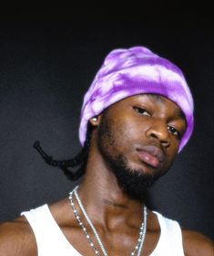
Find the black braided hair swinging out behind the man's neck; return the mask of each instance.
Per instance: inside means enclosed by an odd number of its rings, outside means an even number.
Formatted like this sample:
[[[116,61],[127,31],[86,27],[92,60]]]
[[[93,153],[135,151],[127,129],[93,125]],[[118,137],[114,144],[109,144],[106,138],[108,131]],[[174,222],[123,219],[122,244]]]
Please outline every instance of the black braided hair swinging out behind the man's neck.
[[[88,123],[87,138],[83,148],[75,157],[68,160],[53,159],[52,156],[45,153],[38,141],[34,143],[34,148],[36,148],[38,153],[43,157],[43,159],[46,161],[46,164],[59,167],[70,180],[75,181],[79,177],[83,176],[86,172],[87,157],[89,153],[92,130],[93,126]],[[76,172],[73,172],[69,169],[69,167],[74,168],[79,165],[80,167],[76,170]]]

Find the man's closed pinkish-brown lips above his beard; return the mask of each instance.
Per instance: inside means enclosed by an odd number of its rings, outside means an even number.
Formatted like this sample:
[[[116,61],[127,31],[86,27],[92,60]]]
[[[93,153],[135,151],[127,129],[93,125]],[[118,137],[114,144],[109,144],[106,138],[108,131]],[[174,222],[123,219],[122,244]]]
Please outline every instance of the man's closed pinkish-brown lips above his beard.
[[[155,145],[147,145],[137,149],[140,160],[152,167],[158,166],[164,162],[166,156],[163,151]]]

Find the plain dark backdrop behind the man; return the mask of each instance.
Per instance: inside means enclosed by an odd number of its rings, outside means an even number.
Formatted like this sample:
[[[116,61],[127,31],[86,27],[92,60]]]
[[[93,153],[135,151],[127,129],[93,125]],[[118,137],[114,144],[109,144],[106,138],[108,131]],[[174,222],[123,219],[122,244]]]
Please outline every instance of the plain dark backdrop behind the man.
[[[34,142],[57,159],[76,155],[83,95],[103,59],[113,48],[143,45],[183,70],[196,117],[189,144],[151,189],[149,204],[214,239],[213,23],[208,16],[199,11],[157,20],[139,12],[37,14],[17,11],[0,23],[0,221],[67,196],[74,184],[44,163]]]

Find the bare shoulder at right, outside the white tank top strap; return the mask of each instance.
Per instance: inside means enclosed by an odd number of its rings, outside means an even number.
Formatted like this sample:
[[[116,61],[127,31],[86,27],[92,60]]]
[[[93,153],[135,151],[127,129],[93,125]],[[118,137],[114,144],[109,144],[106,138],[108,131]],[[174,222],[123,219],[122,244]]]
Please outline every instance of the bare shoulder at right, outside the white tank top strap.
[[[207,236],[193,230],[182,229],[182,237],[185,255],[214,255],[214,243]]]

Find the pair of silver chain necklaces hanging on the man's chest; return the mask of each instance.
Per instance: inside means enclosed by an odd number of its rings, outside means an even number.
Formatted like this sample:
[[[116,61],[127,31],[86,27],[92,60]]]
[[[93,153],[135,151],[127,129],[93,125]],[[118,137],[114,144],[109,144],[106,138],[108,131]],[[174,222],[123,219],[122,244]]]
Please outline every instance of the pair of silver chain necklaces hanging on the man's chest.
[[[94,235],[95,235],[95,238],[97,239],[97,242],[98,242],[98,245],[101,249],[101,251],[103,252],[104,256],[108,256],[107,254],[107,251],[102,243],[102,241],[100,240],[98,234],[97,234],[97,230],[95,229],[94,225],[92,224],[91,220],[89,219],[89,217],[87,216],[87,212],[86,212],[86,209],[83,207],[83,204],[80,200],[80,198],[78,197],[78,194],[77,194],[77,188],[78,186],[76,186],[70,193],[69,193],[69,200],[70,200],[70,204],[71,204],[71,207],[73,209],[73,212],[74,212],[74,215],[76,217],[76,221],[78,222],[80,228],[84,231],[86,237],[87,237],[87,241],[91,247],[91,249],[94,251],[95,255],[97,256],[100,256],[100,253],[99,251],[97,251],[97,248],[95,247],[95,244],[93,243],[93,241],[91,240],[88,232],[87,232],[87,229],[85,227],[85,225],[83,224],[77,210],[76,210],[76,207],[75,207],[75,204],[74,204],[74,201],[73,201],[73,195],[75,195],[76,197],[76,201],[79,205],[79,208],[81,208],[82,212],[83,212],[83,215],[84,217],[87,219],[87,223],[89,224],[90,228],[93,230],[94,232]],[[146,231],[147,231],[147,208],[146,206],[144,206],[144,220],[140,226],[140,229],[139,229],[139,235],[138,235],[138,242],[137,242],[137,245],[135,246],[135,249],[134,251],[131,252],[130,256],[134,256],[136,255],[137,253],[137,256],[140,256],[141,252],[142,252],[142,249],[143,249],[143,244],[144,244],[144,240],[145,240],[145,236],[146,236]]]

